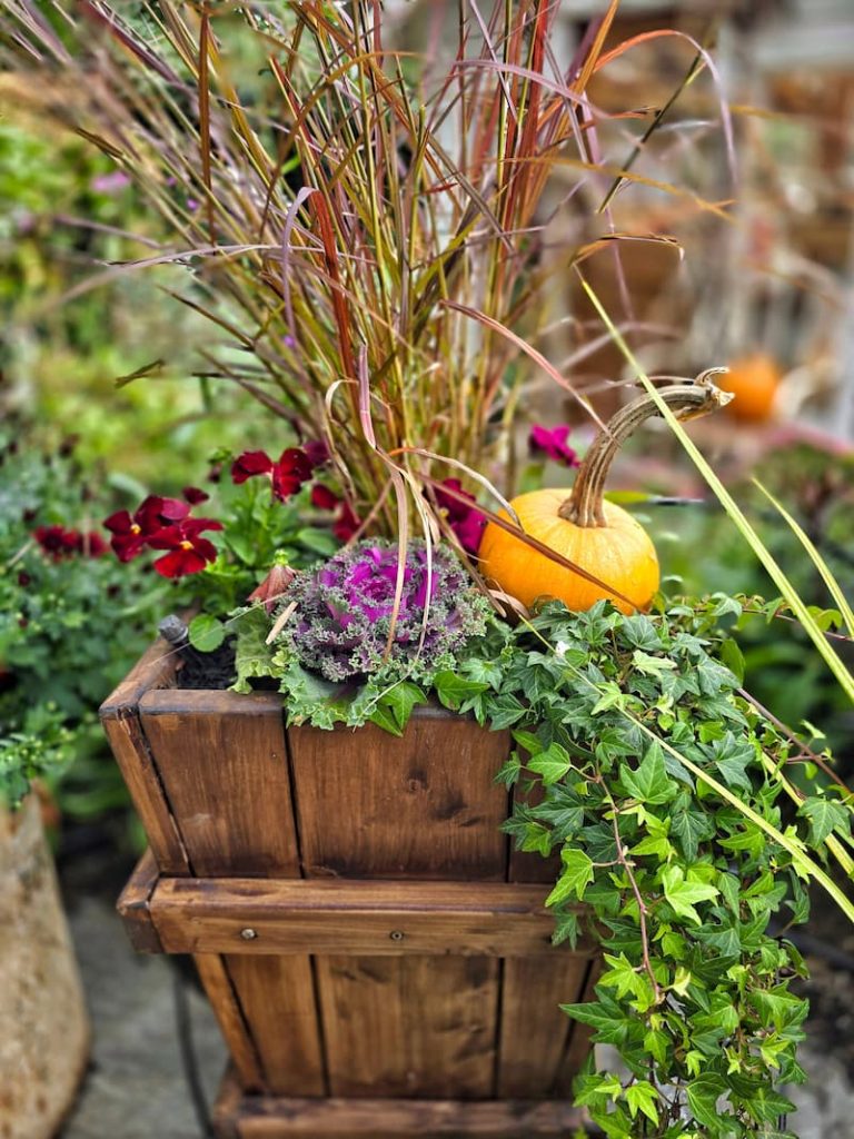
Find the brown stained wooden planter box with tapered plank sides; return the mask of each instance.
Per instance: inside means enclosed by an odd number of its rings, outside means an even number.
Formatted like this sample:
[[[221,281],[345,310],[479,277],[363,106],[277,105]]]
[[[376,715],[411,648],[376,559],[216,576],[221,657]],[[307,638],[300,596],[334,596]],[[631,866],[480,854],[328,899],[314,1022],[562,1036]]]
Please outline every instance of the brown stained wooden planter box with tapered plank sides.
[[[281,698],[176,687],[156,645],[104,704],[150,850],[120,902],[191,953],[233,1067],[221,1136],[566,1134],[598,959],[550,944],[553,868],[500,830],[508,732],[286,730]]]

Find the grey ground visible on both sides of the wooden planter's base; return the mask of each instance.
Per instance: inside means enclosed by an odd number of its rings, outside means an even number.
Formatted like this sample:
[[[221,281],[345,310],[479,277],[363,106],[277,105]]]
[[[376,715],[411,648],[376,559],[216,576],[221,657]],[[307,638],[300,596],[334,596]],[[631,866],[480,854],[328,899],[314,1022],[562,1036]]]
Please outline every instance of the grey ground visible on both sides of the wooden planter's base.
[[[175,968],[162,957],[139,957],[113,910],[124,868],[114,882],[98,871],[64,876],[72,934],[95,1029],[92,1064],[61,1139],[199,1139],[175,1026]],[[843,952],[854,951],[844,924],[826,926]],[[832,921],[832,919],[830,919]],[[813,926],[815,928],[815,926]],[[813,1015],[802,1062],[810,1074],[789,1090],[799,1139],[854,1139],[854,975],[810,958]],[[204,998],[190,990],[192,1038],[208,1103],[225,1065],[225,1049]]]

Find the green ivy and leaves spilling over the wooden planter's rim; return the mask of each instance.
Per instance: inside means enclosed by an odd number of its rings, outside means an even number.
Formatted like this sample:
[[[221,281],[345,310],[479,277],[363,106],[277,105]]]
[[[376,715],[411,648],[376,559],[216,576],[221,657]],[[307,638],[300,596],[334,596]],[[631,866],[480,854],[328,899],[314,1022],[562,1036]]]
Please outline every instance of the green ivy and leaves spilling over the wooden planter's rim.
[[[274,661],[252,613],[244,678]],[[741,695],[718,629],[740,614],[720,597],[633,616],[552,604],[516,629],[494,621],[425,686],[511,730],[498,778],[522,794],[507,830],[520,850],[559,855],[555,942],[574,944],[583,924],[601,941],[596,999],[563,1007],[625,1066],[597,1072],[591,1058],[576,1085],[613,1139],[790,1134],[778,1089],[804,1079],[807,1002],[790,989],[804,962],[771,921],[781,909],[806,920],[810,877],[845,902],[820,863],[828,843],[852,843],[851,796]],[[317,716],[315,688],[303,710],[293,677],[282,682],[288,714]],[[424,693],[399,685],[336,693],[329,724],[400,734]]]

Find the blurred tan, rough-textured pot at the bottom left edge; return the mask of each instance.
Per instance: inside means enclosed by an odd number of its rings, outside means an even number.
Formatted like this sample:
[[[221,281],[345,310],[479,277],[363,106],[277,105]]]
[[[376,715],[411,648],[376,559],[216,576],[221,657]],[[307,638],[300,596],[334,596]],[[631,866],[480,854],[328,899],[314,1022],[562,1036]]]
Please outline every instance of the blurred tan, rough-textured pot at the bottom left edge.
[[[35,795],[0,809],[0,1136],[50,1139],[85,1071],[89,1019]]]

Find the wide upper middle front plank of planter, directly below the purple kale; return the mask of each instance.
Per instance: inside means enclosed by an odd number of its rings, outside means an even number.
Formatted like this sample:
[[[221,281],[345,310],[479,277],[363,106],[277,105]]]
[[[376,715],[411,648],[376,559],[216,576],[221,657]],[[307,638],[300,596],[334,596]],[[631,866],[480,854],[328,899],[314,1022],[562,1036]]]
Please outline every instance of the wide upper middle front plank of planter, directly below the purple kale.
[[[504,878],[508,732],[424,708],[402,739],[303,727],[288,747],[306,877]]]

